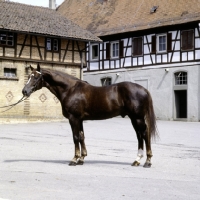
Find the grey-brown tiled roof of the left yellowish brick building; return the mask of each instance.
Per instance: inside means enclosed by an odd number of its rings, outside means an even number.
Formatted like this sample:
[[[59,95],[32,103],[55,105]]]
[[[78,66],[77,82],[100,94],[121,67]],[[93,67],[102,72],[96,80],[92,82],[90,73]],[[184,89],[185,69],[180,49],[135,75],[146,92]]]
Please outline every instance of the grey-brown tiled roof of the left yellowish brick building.
[[[100,41],[91,32],[84,30],[55,10],[14,2],[0,1],[0,29]]]

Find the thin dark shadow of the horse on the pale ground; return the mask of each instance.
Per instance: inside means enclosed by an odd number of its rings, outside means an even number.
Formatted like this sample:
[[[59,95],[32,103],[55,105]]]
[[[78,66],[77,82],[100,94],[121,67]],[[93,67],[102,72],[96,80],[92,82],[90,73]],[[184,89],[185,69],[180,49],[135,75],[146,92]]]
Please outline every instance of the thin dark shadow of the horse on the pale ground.
[[[41,162],[41,163],[54,163],[54,164],[68,164],[70,160],[35,160],[35,159],[15,159],[15,160],[4,160],[5,163],[14,163],[14,162]],[[118,161],[103,161],[103,160],[86,160],[84,165],[91,164],[106,164],[106,165],[130,165],[131,163],[127,162],[118,162]]]

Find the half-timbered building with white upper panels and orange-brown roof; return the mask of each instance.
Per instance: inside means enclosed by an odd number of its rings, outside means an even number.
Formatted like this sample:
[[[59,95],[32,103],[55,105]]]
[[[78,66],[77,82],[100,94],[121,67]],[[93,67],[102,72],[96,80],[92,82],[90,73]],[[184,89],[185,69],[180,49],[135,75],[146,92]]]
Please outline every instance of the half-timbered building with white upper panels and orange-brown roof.
[[[200,120],[198,0],[65,0],[58,12],[103,40],[88,43],[86,81],[138,83],[158,119]]]

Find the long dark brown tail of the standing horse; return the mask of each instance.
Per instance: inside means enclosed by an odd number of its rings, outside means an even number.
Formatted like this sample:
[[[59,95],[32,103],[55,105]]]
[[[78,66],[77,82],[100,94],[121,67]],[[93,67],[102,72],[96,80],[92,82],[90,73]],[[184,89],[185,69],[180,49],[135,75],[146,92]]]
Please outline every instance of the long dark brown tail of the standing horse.
[[[145,121],[147,123],[149,139],[155,140],[156,138],[159,137],[157,126],[156,126],[156,116],[154,113],[151,94],[148,91],[147,91],[147,94],[148,94],[148,105],[147,105],[146,114],[145,114]]]

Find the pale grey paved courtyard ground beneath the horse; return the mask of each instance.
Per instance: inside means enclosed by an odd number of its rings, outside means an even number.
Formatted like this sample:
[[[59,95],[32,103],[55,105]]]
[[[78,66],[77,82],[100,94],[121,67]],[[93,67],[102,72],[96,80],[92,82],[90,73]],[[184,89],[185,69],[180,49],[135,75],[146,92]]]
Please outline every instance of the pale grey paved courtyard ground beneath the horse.
[[[132,167],[128,118],[84,123],[88,157],[74,154],[68,122],[0,125],[0,200],[200,199],[200,123],[158,121],[152,167]]]

